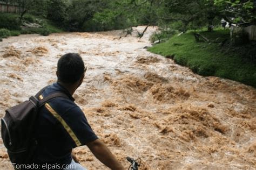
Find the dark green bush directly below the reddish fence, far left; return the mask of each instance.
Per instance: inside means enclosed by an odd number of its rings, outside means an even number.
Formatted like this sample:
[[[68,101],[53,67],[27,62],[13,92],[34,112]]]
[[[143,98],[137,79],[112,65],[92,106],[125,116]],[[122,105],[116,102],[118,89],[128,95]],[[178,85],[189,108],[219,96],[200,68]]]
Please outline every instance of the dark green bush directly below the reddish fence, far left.
[[[13,13],[0,13],[0,29],[21,30],[18,15]]]

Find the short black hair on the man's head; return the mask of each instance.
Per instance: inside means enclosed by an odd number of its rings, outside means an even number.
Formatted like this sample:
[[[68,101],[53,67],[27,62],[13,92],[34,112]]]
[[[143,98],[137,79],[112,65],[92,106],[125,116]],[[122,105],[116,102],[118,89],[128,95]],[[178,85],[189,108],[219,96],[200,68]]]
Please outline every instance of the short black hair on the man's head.
[[[84,61],[77,53],[63,55],[58,61],[58,80],[75,83],[84,73]]]

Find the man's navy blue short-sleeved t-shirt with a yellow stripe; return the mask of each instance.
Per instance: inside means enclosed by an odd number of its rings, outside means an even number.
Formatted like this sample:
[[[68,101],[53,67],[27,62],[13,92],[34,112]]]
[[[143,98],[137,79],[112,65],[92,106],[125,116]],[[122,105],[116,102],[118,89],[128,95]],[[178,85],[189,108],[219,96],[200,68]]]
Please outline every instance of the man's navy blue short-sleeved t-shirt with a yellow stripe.
[[[72,148],[98,139],[74,98],[59,83],[48,86],[39,99],[56,91],[69,98],[57,97],[39,110],[35,125],[38,142],[33,159],[35,164],[68,165],[72,160]]]

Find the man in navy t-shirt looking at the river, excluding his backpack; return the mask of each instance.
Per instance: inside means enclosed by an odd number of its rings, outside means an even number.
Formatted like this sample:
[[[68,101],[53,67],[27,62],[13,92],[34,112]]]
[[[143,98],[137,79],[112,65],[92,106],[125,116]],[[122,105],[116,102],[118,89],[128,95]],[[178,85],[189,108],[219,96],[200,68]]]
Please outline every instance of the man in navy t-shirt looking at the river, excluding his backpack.
[[[86,68],[79,54],[63,55],[57,66],[57,83],[47,87],[39,100],[60,91],[68,98],[57,97],[38,112],[35,138],[38,147],[33,163],[49,169],[85,169],[74,161],[72,148],[87,145],[103,164],[111,169],[124,169],[106,145],[98,139],[83,111],[73,102],[72,95],[82,84]]]

